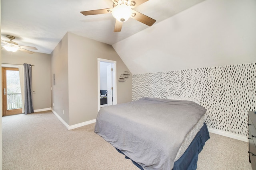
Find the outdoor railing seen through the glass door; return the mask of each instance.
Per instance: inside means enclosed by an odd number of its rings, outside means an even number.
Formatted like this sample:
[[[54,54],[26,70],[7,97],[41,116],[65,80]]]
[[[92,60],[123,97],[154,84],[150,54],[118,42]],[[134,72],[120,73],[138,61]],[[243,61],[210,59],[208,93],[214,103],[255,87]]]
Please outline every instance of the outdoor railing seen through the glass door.
[[[7,93],[7,110],[22,108],[21,93]]]

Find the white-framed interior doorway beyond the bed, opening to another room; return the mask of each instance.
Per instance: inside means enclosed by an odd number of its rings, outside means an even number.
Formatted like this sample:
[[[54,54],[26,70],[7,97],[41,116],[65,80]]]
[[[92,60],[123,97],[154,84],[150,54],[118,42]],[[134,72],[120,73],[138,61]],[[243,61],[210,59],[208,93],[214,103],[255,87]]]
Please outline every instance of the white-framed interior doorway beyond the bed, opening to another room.
[[[98,110],[116,104],[116,61],[98,58]]]

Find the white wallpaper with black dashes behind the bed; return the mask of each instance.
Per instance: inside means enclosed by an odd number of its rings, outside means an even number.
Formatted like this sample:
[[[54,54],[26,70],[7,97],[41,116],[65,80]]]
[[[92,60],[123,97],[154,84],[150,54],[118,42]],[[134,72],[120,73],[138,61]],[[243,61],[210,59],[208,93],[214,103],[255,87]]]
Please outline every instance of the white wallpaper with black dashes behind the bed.
[[[132,75],[132,100],[182,96],[207,109],[208,127],[248,136],[256,111],[256,63]]]

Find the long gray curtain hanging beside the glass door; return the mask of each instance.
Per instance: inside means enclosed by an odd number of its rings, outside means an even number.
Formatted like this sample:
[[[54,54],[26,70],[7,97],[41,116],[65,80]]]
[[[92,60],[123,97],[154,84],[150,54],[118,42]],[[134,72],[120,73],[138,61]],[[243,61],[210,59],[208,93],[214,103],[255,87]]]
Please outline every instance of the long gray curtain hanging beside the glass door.
[[[23,64],[24,66],[24,90],[25,90],[25,101],[24,101],[24,113],[33,113],[34,109],[32,106],[31,98],[31,82],[32,82],[32,66],[31,64]]]

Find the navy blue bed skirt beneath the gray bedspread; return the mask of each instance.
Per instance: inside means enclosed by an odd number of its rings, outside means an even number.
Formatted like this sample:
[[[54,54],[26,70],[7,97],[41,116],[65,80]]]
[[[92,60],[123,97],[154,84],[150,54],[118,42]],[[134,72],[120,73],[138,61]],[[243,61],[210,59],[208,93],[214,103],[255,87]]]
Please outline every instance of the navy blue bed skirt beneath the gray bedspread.
[[[196,134],[193,141],[190,143],[188,149],[184,152],[184,154],[176,161],[174,162],[174,167],[172,170],[196,170],[197,168],[197,160],[198,160],[198,154],[201,152],[201,150],[204,147],[205,142],[210,139],[210,135],[208,132],[208,128],[206,123],[204,123],[203,127],[200,129],[200,131]],[[118,152],[122,153],[119,149]],[[122,153],[123,154],[123,153]],[[126,159],[130,159],[127,156],[125,156]],[[132,162],[141,170],[143,168],[134,162]]]

